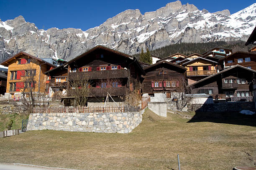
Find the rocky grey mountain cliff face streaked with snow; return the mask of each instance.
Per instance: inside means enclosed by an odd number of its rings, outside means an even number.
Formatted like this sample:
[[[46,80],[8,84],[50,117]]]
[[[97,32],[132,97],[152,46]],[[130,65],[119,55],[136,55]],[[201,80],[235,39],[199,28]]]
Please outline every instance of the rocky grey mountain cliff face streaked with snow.
[[[256,25],[256,3],[230,15],[229,10],[209,13],[180,1],[142,15],[126,10],[98,27],[38,30],[22,16],[0,20],[0,60],[24,51],[41,58],[71,60],[95,45],[128,54],[177,42],[247,40]]]

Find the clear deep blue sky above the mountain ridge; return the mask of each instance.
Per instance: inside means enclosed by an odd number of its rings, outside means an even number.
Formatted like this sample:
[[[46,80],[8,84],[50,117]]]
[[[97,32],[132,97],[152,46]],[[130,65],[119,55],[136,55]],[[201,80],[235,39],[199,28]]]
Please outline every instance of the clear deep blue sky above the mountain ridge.
[[[52,27],[88,30],[108,18],[128,9],[139,9],[141,14],[155,11],[174,0],[0,0],[0,19],[13,19],[22,15],[39,29]],[[255,0],[181,0],[194,4],[210,13],[228,9],[236,13],[255,3]]]

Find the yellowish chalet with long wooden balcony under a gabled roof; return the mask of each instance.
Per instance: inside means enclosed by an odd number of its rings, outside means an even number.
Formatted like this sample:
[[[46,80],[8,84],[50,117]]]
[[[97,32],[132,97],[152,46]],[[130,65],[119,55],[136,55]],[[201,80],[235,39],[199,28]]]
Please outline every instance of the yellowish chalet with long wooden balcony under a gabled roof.
[[[188,84],[193,84],[209,75],[214,75],[217,72],[217,63],[202,57],[184,62],[182,66],[187,69]]]

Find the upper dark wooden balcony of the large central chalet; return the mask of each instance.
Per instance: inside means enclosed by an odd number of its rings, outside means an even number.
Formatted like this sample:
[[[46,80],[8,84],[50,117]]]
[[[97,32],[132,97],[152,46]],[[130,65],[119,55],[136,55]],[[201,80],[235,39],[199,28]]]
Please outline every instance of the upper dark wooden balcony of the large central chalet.
[[[88,79],[107,79],[107,78],[125,78],[128,77],[126,69],[118,70],[102,70],[88,72],[69,72],[69,80],[74,80],[74,77],[88,77]]]

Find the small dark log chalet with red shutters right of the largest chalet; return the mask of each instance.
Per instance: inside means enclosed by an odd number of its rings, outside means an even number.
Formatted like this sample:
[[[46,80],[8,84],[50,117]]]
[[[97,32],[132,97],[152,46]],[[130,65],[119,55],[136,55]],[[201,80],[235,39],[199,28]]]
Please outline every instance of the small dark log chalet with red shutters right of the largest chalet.
[[[185,79],[186,68],[168,61],[156,62],[144,68],[142,93],[172,92]]]

